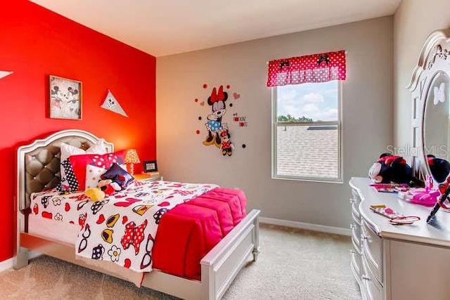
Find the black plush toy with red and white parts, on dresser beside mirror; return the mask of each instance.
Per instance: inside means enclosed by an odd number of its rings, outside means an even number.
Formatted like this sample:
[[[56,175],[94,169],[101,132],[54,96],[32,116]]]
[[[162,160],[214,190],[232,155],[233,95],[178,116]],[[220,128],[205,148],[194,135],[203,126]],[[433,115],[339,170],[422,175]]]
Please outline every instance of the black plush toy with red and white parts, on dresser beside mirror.
[[[412,170],[406,160],[398,155],[383,153],[368,171],[374,183],[410,183]]]

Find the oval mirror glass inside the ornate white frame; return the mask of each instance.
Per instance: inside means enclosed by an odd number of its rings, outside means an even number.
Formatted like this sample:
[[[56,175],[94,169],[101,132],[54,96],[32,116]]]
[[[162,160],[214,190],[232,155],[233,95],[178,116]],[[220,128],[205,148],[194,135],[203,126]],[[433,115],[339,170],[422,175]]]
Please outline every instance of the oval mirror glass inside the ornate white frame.
[[[450,171],[449,84],[445,72],[437,72],[432,77],[423,113],[423,152],[427,171],[437,183],[444,182]]]

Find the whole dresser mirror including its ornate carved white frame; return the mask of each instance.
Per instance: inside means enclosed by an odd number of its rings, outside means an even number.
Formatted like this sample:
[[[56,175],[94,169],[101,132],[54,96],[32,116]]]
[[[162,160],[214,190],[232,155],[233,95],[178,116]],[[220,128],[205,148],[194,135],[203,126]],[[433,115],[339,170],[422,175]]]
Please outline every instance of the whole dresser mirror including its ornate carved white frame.
[[[432,32],[406,89],[411,91],[413,176],[442,183],[450,172],[450,29]]]

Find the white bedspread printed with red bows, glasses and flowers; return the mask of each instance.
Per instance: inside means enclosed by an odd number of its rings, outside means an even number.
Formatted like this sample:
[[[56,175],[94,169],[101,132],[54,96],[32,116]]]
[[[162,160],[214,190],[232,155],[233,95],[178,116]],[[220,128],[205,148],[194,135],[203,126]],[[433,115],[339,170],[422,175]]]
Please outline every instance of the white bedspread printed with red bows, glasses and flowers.
[[[132,181],[126,190],[98,202],[89,200],[84,193],[33,193],[31,207],[32,214],[79,225],[77,255],[148,272],[152,269],[151,251],[162,215],[213,188],[217,185]]]

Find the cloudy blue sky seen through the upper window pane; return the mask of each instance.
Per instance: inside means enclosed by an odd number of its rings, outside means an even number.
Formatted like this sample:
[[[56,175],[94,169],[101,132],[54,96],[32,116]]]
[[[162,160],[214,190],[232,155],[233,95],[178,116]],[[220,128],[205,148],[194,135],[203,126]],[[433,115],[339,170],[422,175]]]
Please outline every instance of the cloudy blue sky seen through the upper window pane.
[[[277,117],[338,121],[338,80],[277,87]]]

